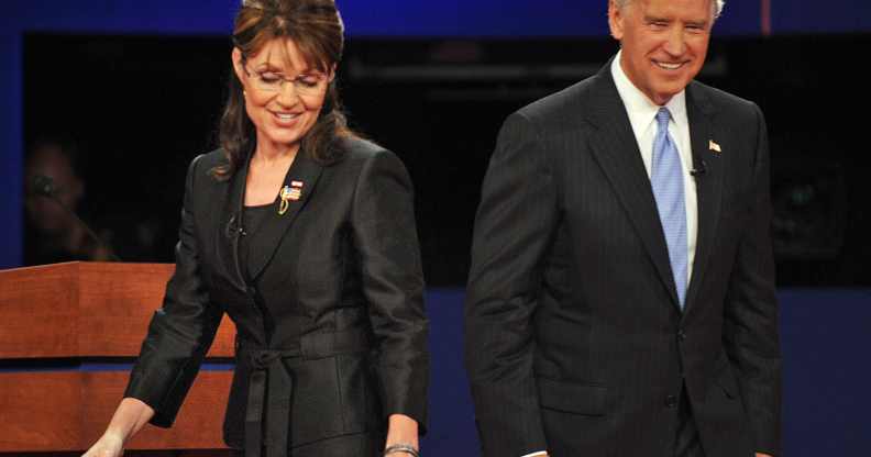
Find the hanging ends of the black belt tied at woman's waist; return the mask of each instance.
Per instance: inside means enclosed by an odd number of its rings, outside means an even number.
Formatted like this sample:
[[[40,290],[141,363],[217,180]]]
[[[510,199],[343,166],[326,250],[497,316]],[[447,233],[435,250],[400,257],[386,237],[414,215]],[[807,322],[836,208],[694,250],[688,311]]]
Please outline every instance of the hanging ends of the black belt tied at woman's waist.
[[[283,358],[299,357],[299,350],[251,350],[247,411],[245,412],[245,457],[287,456],[290,433],[290,401],[294,377]],[[263,433],[263,408],[266,405],[266,436]]]

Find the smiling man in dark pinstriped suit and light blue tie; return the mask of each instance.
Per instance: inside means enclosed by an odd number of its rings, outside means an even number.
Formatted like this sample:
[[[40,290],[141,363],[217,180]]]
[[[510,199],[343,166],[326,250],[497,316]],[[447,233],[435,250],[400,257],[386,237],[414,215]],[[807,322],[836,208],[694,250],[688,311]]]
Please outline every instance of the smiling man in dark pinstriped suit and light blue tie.
[[[769,154],[693,81],[719,0],[610,0],[620,53],[508,118],[466,365],[486,457],[779,455]]]

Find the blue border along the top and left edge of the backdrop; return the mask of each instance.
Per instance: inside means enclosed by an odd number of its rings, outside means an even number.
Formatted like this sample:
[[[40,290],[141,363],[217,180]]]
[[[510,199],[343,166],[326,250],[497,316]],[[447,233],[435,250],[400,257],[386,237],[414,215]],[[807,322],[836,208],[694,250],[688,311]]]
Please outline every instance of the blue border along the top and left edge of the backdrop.
[[[5,101],[0,105],[0,220],[4,222],[0,232],[0,267],[22,261],[24,34],[225,36],[238,4],[239,0],[32,0],[4,5],[0,14],[0,99]],[[339,4],[350,35],[357,38],[580,38],[600,37],[606,32],[606,0],[340,0]],[[871,3],[864,0],[729,1],[716,33],[738,37],[867,33],[871,31],[870,16]],[[811,58],[817,69],[831,71],[857,62],[833,62],[827,58],[828,51]],[[516,55],[514,62],[522,64],[529,57]],[[801,74],[792,76],[802,78]]]

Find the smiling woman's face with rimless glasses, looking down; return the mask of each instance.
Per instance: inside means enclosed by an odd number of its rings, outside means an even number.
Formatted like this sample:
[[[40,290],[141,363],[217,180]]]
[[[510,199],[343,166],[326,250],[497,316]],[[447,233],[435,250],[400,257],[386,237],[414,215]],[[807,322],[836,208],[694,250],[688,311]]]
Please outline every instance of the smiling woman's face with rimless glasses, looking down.
[[[275,38],[233,67],[245,90],[245,111],[257,130],[257,147],[296,149],[318,121],[334,71],[309,68],[296,44]]]

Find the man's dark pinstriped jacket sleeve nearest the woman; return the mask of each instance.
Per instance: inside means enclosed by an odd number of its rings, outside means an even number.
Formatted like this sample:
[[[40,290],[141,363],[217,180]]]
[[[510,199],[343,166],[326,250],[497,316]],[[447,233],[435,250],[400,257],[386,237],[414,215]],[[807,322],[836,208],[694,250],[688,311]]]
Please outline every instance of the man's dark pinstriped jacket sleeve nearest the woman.
[[[530,122],[519,113],[509,116],[475,219],[465,360],[488,457],[548,448],[532,370],[532,315],[559,213],[544,154]]]

